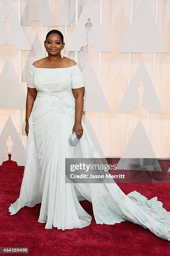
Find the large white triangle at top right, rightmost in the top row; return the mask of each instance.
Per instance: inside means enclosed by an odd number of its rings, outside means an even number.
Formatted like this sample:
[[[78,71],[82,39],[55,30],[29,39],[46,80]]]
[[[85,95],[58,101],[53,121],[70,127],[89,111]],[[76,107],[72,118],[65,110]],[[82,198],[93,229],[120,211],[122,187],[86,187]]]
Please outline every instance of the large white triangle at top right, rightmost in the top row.
[[[167,52],[147,0],[142,0],[119,52]]]

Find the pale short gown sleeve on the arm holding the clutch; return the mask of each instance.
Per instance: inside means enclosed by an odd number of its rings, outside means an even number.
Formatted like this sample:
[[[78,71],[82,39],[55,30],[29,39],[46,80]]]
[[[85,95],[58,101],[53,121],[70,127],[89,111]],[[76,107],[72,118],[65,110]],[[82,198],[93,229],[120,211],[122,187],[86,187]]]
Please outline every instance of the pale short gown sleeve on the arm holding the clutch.
[[[76,64],[73,67],[71,72],[71,88],[77,89],[84,87],[84,78],[79,66]]]

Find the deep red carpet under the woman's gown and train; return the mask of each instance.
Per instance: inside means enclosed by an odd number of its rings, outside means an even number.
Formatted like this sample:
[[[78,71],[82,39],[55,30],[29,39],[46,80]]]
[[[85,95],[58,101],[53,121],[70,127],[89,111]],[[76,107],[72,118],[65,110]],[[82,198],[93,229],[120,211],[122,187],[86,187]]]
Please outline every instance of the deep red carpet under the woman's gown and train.
[[[167,172],[169,162],[159,161],[159,163]],[[43,256],[91,256],[94,253],[100,256],[170,254],[170,242],[158,238],[150,230],[139,225],[127,221],[115,225],[96,224],[91,203],[87,201],[81,202],[81,205],[93,220],[91,225],[82,229],[46,230],[45,223],[37,222],[41,204],[32,208],[24,207],[15,215],[10,215],[8,207],[19,197],[23,170],[24,166],[17,166],[16,162],[10,160],[0,166],[0,247],[27,246],[29,255]],[[137,190],[149,199],[157,196],[158,200],[163,202],[163,207],[170,211],[169,184],[119,184],[119,187],[125,194]]]

